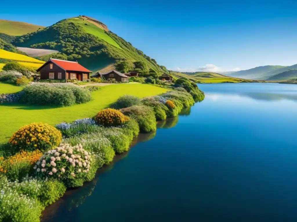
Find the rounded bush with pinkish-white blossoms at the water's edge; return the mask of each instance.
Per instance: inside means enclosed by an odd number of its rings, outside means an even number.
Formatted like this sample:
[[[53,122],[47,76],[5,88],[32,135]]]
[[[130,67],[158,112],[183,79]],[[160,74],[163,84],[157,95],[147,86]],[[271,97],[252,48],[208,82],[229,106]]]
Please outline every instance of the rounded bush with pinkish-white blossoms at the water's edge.
[[[37,161],[34,170],[41,178],[55,178],[67,187],[77,187],[94,178],[92,163],[91,154],[84,150],[81,144],[74,147],[60,144],[59,147],[45,152]]]

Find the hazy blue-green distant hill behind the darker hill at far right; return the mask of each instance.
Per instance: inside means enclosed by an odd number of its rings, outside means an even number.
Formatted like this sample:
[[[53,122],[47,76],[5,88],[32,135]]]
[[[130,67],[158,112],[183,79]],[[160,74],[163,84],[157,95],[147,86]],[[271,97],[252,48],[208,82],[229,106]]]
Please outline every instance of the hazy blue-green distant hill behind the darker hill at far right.
[[[248,69],[248,70],[241,70],[241,71],[237,71],[237,72],[226,73],[226,75],[239,77],[239,78],[264,80],[264,79],[269,78],[270,75],[280,73],[287,69],[288,69],[287,66],[266,65],[266,66],[258,66],[258,67]]]

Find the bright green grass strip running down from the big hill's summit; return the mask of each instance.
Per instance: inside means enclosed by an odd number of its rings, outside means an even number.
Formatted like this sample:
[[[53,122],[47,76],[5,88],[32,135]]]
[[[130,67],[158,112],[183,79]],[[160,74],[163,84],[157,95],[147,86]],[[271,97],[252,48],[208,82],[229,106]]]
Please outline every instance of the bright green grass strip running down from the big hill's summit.
[[[79,18],[70,18],[67,19],[69,22],[73,22],[75,25],[79,25],[83,28],[83,31],[89,34],[92,34],[94,36],[98,36],[102,40],[106,41],[110,45],[113,45],[117,48],[121,48],[119,44],[116,43],[110,36],[105,34],[104,30],[99,28],[98,26],[92,24],[91,22],[88,22],[86,19],[79,19]],[[87,25],[85,25],[87,24]]]

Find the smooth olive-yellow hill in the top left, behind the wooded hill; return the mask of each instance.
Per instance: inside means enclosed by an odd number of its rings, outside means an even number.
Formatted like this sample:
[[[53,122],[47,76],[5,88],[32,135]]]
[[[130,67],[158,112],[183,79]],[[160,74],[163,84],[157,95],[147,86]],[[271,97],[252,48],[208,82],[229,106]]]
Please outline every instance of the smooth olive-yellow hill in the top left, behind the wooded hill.
[[[42,29],[44,26],[33,25],[26,22],[0,20],[0,33],[7,34],[9,36],[25,35],[27,33],[35,32],[39,28]]]

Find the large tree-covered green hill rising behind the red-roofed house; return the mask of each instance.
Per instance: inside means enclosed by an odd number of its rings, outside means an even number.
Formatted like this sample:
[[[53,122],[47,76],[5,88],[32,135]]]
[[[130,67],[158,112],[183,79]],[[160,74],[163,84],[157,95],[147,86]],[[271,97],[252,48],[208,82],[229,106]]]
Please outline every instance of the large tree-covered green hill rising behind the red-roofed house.
[[[42,30],[17,36],[12,44],[58,50],[61,52],[60,58],[77,60],[93,72],[110,65],[115,65],[121,72],[135,70],[143,75],[161,75],[165,69],[131,43],[109,31],[102,22],[86,16],[64,19]]]

